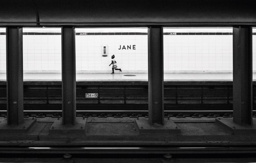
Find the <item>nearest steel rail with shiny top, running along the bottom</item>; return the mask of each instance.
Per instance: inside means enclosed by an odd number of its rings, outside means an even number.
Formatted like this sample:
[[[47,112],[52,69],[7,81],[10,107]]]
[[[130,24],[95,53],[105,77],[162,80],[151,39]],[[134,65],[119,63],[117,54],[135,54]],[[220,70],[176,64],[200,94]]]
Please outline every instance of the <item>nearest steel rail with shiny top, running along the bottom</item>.
[[[256,147],[0,147],[0,153],[224,154],[256,153]]]

